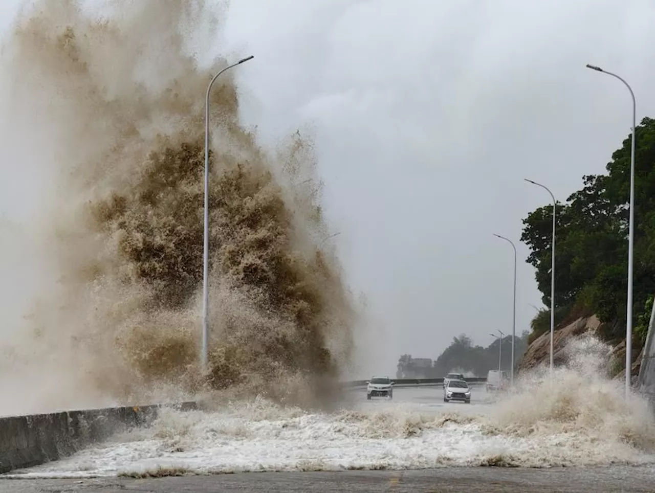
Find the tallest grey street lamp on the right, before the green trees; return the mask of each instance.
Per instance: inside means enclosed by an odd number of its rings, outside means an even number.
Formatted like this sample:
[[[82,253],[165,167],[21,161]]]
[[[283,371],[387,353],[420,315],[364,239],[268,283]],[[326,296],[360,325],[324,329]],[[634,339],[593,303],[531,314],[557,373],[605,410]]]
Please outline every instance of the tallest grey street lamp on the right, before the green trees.
[[[635,244],[635,133],[637,132],[637,101],[630,84],[615,73],[587,64],[587,68],[607,73],[626,84],[632,96],[632,143],[630,149],[630,219],[627,233],[627,314],[626,314],[626,399],[630,395],[632,376],[632,270],[633,250]]]

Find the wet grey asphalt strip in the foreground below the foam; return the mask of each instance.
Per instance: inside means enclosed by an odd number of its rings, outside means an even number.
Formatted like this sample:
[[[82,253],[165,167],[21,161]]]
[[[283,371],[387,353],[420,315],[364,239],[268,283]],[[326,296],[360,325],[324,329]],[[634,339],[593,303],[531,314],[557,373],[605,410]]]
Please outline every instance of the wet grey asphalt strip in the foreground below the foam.
[[[0,480],[0,493],[618,493],[655,492],[654,467],[244,473],[160,479]]]

